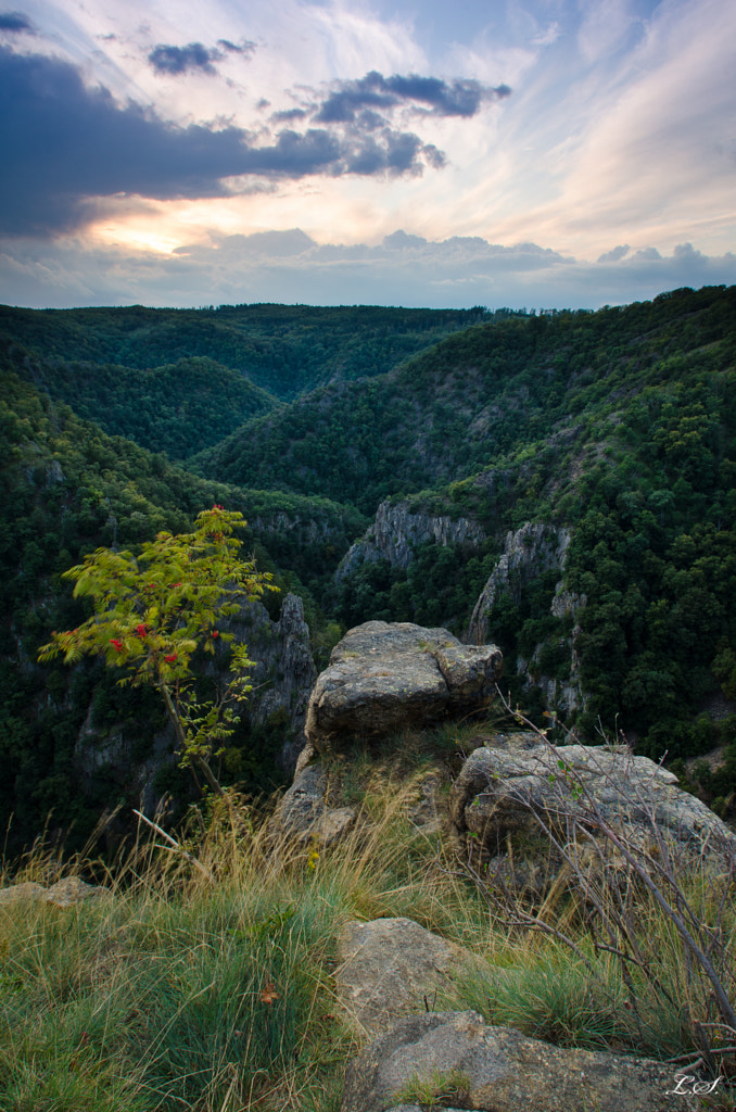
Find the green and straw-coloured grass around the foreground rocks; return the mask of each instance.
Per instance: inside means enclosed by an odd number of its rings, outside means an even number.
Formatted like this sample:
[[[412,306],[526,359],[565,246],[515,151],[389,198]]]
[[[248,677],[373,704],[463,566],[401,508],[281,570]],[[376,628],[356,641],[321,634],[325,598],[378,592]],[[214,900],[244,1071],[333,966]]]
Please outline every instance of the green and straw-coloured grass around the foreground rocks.
[[[398,775],[374,766],[362,821],[329,853],[275,847],[236,800],[187,842],[213,882],[143,833],[113,868],[67,863],[67,873],[97,872],[110,898],[0,905],[3,1112],[337,1112],[360,1043],[331,972],[340,929],[356,917],[407,916],[487,960],[438,1011],[473,1007],[563,1045],[696,1052],[690,973],[656,909],[638,909],[641,942],[669,969],[677,1003],[641,979],[643,1041],[610,954],[581,935],[591,973],[558,940],[495,922],[441,838],[408,821],[427,770],[418,762],[409,774],[406,759]],[[49,883],[60,867],[37,847],[13,880]],[[420,1103],[441,1102],[441,1089]]]

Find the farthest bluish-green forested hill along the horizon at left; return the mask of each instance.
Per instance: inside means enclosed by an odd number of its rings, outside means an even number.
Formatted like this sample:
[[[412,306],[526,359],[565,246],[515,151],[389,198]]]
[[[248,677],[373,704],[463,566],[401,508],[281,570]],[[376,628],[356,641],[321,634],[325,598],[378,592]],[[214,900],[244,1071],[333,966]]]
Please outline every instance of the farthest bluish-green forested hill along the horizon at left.
[[[509,310],[504,310],[509,311]],[[396,309],[375,306],[222,305],[209,309],[13,309],[0,306],[0,336],[22,345],[57,369],[113,365],[170,367],[210,359],[239,371],[278,398],[290,399],[322,383],[380,375],[449,332],[493,317],[477,309]],[[77,391],[63,374],[53,389],[70,405],[93,404],[91,384]],[[126,391],[135,378],[123,376]],[[225,401],[229,393],[223,390]],[[116,433],[121,429],[109,428]]]

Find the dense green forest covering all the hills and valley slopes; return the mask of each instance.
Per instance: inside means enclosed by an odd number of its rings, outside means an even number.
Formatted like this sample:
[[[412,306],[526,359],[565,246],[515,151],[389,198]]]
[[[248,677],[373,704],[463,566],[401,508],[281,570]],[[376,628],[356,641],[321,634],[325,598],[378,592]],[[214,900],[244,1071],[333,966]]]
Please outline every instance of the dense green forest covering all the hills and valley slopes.
[[[305,598],[315,645],[374,617],[463,634],[509,530],[569,529],[564,572],[488,615],[515,696],[559,713],[535,681],[565,683],[574,664],[585,698],[568,726],[623,729],[732,813],[735,356],[725,287],[539,316],[0,309],[0,820],[27,837],[49,812],[84,830],[115,805],[103,762],[77,790],[76,739],[90,722],[148,736],[160,711],[101,667],[37,665],[80,613],[60,574],[98,545],[181,532],[212,502],[248,517],[249,549]],[[336,577],[386,499],[485,540]],[[560,575],[574,618],[550,612]],[[717,765],[693,767],[716,746]],[[248,790],[277,782],[271,757]]]

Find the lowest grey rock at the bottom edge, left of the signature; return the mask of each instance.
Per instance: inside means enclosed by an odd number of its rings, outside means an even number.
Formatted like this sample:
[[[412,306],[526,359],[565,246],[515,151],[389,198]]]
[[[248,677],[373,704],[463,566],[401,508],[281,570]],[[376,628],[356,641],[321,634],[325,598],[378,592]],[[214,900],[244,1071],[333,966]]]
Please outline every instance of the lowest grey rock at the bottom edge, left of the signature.
[[[442,1080],[449,1099],[441,1101]],[[596,1051],[560,1050],[476,1012],[401,1020],[348,1068],[340,1112],[416,1108],[416,1081],[452,1103],[487,1112],[690,1112],[674,1095],[675,1066]],[[426,1091],[426,1090],[425,1090]],[[409,1103],[407,1103],[407,1101]],[[404,1103],[402,1103],[404,1102]]]

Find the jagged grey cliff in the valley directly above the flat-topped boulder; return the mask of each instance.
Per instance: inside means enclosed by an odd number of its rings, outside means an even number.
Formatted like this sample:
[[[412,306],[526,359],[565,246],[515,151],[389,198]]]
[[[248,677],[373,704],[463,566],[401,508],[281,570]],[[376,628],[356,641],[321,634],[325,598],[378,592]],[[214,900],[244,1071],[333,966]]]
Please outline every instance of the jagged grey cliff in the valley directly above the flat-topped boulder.
[[[485,539],[483,526],[469,517],[412,513],[408,502],[395,505],[382,502],[366,535],[356,540],[342,557],[335,578],[339,583],[360,564],[374,564],[379,559],[387,559],[391,567],[406,568],[414,558],[415,545],[426,542],[477,548]]]

